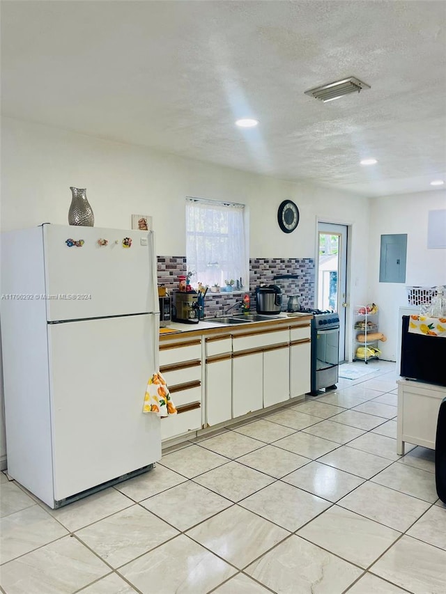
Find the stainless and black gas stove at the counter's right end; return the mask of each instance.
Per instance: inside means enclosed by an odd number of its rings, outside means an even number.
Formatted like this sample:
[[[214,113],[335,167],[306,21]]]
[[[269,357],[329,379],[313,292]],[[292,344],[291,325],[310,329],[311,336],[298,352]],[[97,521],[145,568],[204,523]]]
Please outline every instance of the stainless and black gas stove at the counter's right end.
[[[300,310],[312,313],[311,324],[311,391],[310,396],[319,396],[319,390],[337,389],[339,379],[339,315],[320,309]]]

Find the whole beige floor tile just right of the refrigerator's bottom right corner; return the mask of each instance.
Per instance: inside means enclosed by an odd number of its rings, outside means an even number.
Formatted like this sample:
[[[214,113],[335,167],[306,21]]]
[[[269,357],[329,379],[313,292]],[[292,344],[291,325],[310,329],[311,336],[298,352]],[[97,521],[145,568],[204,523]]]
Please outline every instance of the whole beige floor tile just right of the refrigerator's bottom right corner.
[[[227,462],[228,458],[193,445],[163,456],[160,465],[192,478]]]

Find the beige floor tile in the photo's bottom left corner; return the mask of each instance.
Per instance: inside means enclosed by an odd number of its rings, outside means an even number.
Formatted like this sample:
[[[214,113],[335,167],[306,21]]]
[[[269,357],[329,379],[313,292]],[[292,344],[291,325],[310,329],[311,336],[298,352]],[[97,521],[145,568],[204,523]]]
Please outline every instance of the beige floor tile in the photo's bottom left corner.
[[[72,594],[109,571],[79,540],[66,536],[3,565],[1,585],[8,594]]]

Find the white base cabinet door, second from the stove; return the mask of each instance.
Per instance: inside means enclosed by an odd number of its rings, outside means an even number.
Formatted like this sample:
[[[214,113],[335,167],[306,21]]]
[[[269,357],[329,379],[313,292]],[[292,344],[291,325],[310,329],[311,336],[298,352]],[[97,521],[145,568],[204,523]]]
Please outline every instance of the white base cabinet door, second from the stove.
[[[263,352],[263,406],[284,402],[290,397],[289,346]]]

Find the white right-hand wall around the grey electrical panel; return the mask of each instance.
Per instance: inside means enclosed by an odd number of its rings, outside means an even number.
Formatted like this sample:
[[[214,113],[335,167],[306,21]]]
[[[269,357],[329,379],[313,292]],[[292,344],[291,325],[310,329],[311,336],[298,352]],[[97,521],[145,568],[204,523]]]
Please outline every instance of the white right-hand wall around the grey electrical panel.
[[[445,190],[374,198],[370,209],[369,295],[380,306],[379,327],[388,338],[379,343],[383,359],[397,356],[399,306],[407,305],[406,286],[446,284],[446,249],[427,249],[429,210],[446,209]],[[406,283],[380,283],[380,236],[407,233]]]

